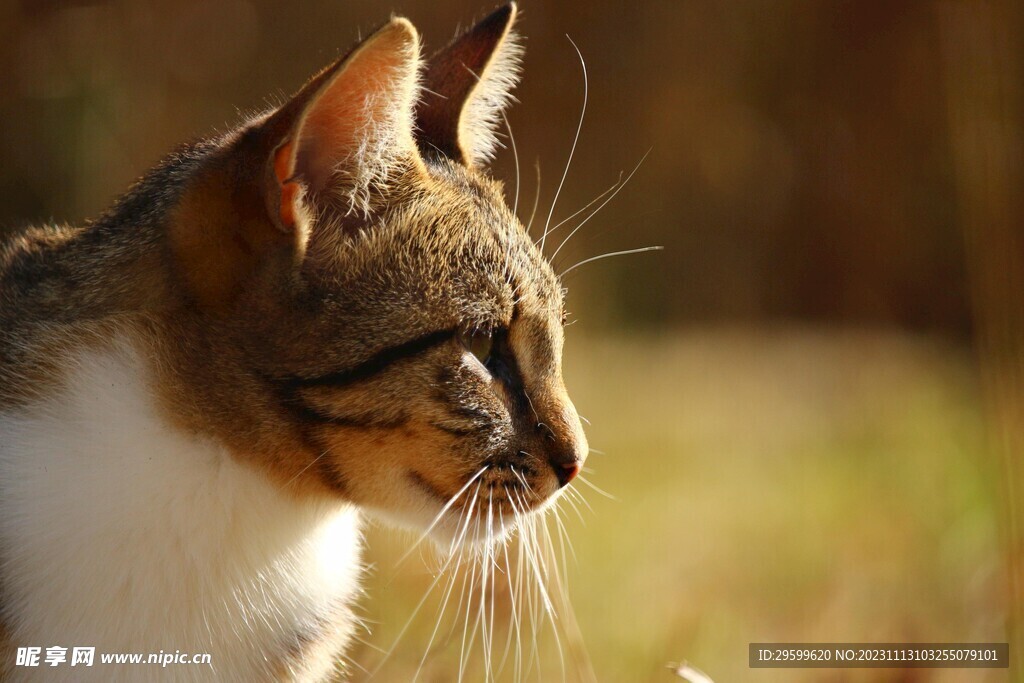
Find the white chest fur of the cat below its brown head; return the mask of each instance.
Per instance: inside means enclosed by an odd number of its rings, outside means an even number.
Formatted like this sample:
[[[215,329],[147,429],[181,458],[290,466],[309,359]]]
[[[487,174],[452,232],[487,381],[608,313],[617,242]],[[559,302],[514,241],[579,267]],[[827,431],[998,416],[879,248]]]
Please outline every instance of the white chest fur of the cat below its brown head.
[[[351,600],[356,511],[293,500],[169,427],[127,344],[71,367],[58,395],[0,413],[0,581],[14,645],[94,646],[96,664],[14,680],[270,678],[296,633]],[[161,650],[212,668],[99,663]]]

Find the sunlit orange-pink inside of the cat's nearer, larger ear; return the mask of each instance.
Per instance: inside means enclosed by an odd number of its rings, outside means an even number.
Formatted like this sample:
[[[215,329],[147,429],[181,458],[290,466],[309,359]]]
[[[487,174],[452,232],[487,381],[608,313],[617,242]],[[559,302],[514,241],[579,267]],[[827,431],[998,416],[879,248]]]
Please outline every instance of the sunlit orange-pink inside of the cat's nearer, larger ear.
[[[369,212],[403,164],[422,164],[413,139],[419,70],[416,29],[392,18],[274,113],[263,124],[280,139],[266,173],[271,216],[294,227],[306,193]]]

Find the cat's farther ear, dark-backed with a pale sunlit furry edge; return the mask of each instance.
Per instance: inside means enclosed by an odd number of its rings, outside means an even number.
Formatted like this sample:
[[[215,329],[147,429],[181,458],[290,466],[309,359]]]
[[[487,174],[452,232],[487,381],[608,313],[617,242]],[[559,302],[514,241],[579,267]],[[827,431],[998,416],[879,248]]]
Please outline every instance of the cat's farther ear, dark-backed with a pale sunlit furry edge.
[[[519,80],[522,48],[512,31],[515,17],[515,3],[509,3],[428,60],[416,110],[424,155],[440,154],[467,166],[494,156],[495,129]]]

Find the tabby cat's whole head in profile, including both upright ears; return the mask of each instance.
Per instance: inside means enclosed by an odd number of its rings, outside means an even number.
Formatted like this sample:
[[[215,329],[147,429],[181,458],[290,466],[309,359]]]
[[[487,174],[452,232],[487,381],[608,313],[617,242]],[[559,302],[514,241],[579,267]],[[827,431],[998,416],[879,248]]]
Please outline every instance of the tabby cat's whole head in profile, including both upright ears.
[[[483,165],[514,5],[423,62],[393,18],[209,145],[170,212],[171,403],[300,496],[425,525],[544,507],[587,440],[563,293]]]

